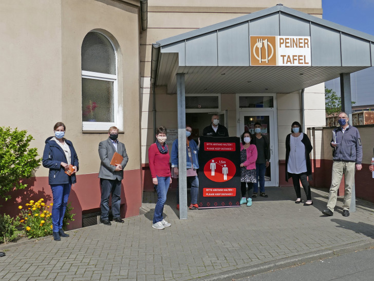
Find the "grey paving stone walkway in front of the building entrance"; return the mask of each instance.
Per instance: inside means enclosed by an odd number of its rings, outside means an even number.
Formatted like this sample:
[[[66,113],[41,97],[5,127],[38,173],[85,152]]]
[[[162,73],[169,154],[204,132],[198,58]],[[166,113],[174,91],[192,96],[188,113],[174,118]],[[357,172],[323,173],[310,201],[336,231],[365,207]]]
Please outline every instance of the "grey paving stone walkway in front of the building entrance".
[[[340,198],[325,217],[325,191],[312,189],[312,206],[295,204],[292,187],[270,187],[267,194],[251,207],[188,210],[188,220],[179,220],[176,194],[169,192],[164,214],[172,226],[156,230],[156,194],[144,192],[144,214],[125,223],[69,231],[60,242],[0,245],[6,251],[0,279],[230,280],[374,245],[372,203],[358,199],[356,212],[343,217]]]

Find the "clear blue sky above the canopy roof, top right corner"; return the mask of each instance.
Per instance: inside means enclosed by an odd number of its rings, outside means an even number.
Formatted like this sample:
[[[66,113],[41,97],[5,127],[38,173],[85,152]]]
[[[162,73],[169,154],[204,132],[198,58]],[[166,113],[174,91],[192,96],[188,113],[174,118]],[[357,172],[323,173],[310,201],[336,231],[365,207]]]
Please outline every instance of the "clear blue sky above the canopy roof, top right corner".
[[[374,0],[322,0],[323,19],[374,36]]]

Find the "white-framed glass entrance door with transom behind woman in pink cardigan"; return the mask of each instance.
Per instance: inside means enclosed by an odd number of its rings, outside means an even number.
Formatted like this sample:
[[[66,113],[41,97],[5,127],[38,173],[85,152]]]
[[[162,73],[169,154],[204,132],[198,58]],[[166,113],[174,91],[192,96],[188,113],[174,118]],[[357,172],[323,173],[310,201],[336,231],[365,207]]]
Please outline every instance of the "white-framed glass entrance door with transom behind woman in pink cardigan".
[[[240,134],[244,131],[250,131],[254,135],[254,124],[261,124],[261,134],[269,141],[270,148],[270,165],[265,173],[265,186],[278,186],[278,151],[277,151],[277,134],[274,125],[273,111],[241,111],[240,112]]]

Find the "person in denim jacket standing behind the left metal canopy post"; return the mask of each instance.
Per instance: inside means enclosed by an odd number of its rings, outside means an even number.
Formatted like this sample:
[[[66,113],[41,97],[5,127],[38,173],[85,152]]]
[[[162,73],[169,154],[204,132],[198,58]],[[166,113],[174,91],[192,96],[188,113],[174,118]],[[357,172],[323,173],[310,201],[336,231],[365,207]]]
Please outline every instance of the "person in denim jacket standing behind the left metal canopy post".
[[[191,204],[190,209],[198,209],[197,197],[199,195],[199,179],[196,170],[199,168],[198,152],[199,148],[191,136],[192,127],[185,126],[186,136],[186,167],[187,167],[187,184],[191,185]],[[172,178],[177,179],[178,170],[178,138],[173,143],[172,149]],[[178,181],[179,190],[179,181]],[[179,209],[179,192],[177,194],[177,209]]]

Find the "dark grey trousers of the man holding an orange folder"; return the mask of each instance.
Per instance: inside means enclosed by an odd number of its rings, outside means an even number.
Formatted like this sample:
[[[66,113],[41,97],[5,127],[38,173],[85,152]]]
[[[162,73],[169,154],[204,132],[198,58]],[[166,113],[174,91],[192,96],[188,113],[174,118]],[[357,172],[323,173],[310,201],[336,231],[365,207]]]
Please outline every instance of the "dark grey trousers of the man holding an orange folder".
[[[111,213],[113,218],[120,218],[121,181],[100,179],[101,182],[101,219],[107,220],[109,214],[109,196],[111,193]]]

